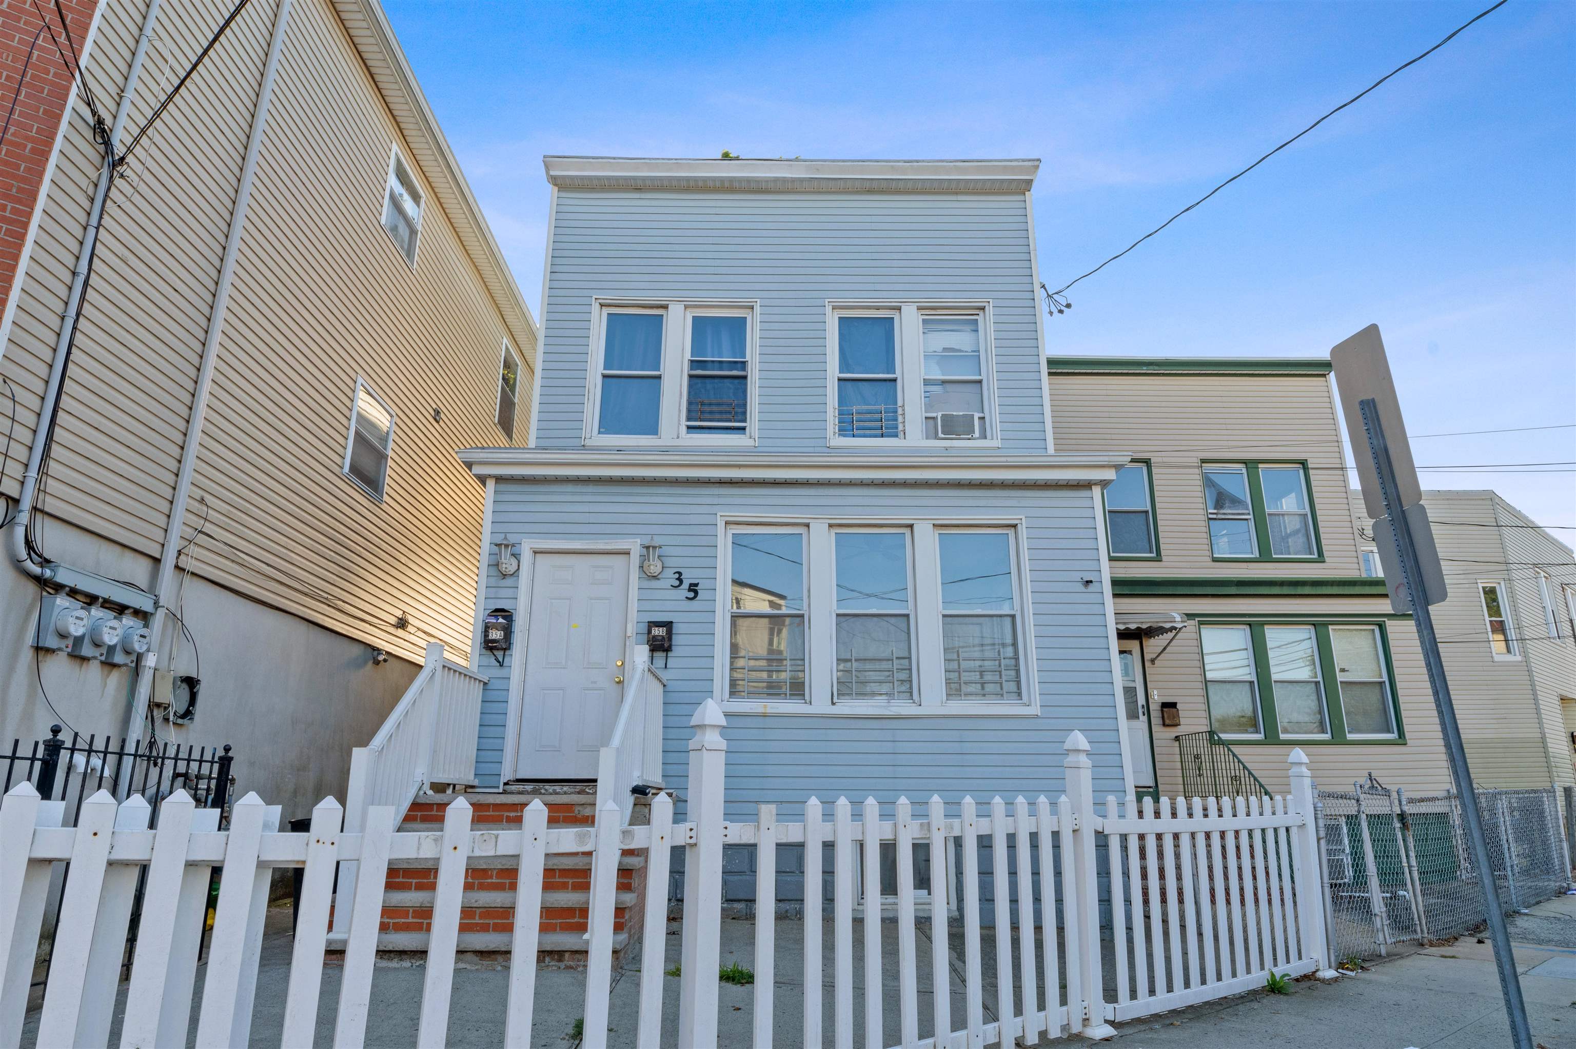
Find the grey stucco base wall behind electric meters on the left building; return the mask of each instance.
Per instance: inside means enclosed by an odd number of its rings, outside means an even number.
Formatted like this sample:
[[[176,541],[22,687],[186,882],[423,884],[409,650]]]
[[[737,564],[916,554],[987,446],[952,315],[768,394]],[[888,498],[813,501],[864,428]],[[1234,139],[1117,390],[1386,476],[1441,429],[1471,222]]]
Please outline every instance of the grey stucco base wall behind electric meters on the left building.
[[[49,521],[50,554],[113,578],[142,581],[153,562],[65,523]],[[120,739],[131,698],[131,668],[112,668],[65,652],[33,662],[39,591],[28,576],[0,565],[0,743],[47,739],[65,721],[87,737]],[[184,617],[202,654],[197,718],[156,732],[181,745],[233,747],[236,791],[257,791],[282,817],[307,816],[326,795],[344,803],[350,751],[364,747],[419,669],[389,658],[375,666],[362,641],[213,586],[186,583]],[[173,619],[167,635],[178,633]],[[192,646],[180,643],[173,668],[197,674]],[[460,658],[466,658],[465,654]],[[161,665],[169,666],[169,647]],[[39,677],[49,704],[39,691]],[[134,732],[145,736],[147,732]],[[66,739],[71,731],[66,729]]]

